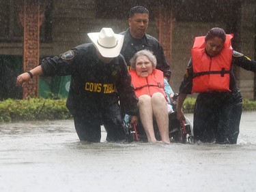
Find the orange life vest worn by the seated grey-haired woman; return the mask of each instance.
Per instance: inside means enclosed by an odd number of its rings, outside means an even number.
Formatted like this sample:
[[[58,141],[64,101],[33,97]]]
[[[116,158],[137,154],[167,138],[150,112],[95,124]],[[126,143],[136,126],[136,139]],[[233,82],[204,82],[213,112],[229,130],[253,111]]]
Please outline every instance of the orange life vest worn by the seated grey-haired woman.
[[[137,76],[137,73],[134,70],[130,70],[129,73],[130,76],[132,76],[132,84],[138,98],[141,95],[150,95],[151,97],[154,93],[160,92],[162,95],[165,95],[166,99],[164,75],[162,71],[154,69],[152,74],[146,78]]]

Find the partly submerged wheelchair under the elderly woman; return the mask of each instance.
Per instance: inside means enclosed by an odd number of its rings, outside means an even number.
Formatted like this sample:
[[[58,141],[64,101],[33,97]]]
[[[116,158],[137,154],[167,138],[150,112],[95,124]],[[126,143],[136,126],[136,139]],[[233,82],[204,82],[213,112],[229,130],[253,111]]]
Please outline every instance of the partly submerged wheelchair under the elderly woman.
[[[177,94],[173,96],[173,102],[171,105],[173,109],[176,108],[175,104],[177,103]],[[124,121],[124,131],[126,133],[126,140],[128,142],[147,142],[147,135],[143,129],[141,121],[138,125],[130,125],[130,119],[126,116]],[[160,133],[156,121],[154,120],[154,131],[156,135],[156,140],[160,140]],[[193,138],[193,125],[188,118],[185,117],[185,121],[180,122],[177,119],[177,112],[169,113],[169,138],[170,142],[178,142],[182,144],[194,144]]]

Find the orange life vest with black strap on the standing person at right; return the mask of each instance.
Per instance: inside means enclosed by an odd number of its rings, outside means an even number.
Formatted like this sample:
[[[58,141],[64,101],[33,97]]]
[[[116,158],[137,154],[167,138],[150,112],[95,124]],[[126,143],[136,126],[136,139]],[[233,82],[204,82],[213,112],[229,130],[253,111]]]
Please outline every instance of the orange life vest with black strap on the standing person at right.
[[[233,34],[226,35],[223,49],[215,57],[205,52],[205,37],[196,37],[191,50],[193,62],[192,93],[209,91],[230,91],[230,69],[233,48]]]

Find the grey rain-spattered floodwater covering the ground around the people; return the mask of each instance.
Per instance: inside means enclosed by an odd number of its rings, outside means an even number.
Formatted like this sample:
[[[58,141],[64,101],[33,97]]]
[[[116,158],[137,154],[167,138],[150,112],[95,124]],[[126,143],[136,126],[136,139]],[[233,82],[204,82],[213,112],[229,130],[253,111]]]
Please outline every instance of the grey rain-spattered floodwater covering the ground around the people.
[[[193,120],[193,115],[187,115]],[[0,124],[0,191],[256,191],[256,112],[236,145],[79,142],[72,120]]]

